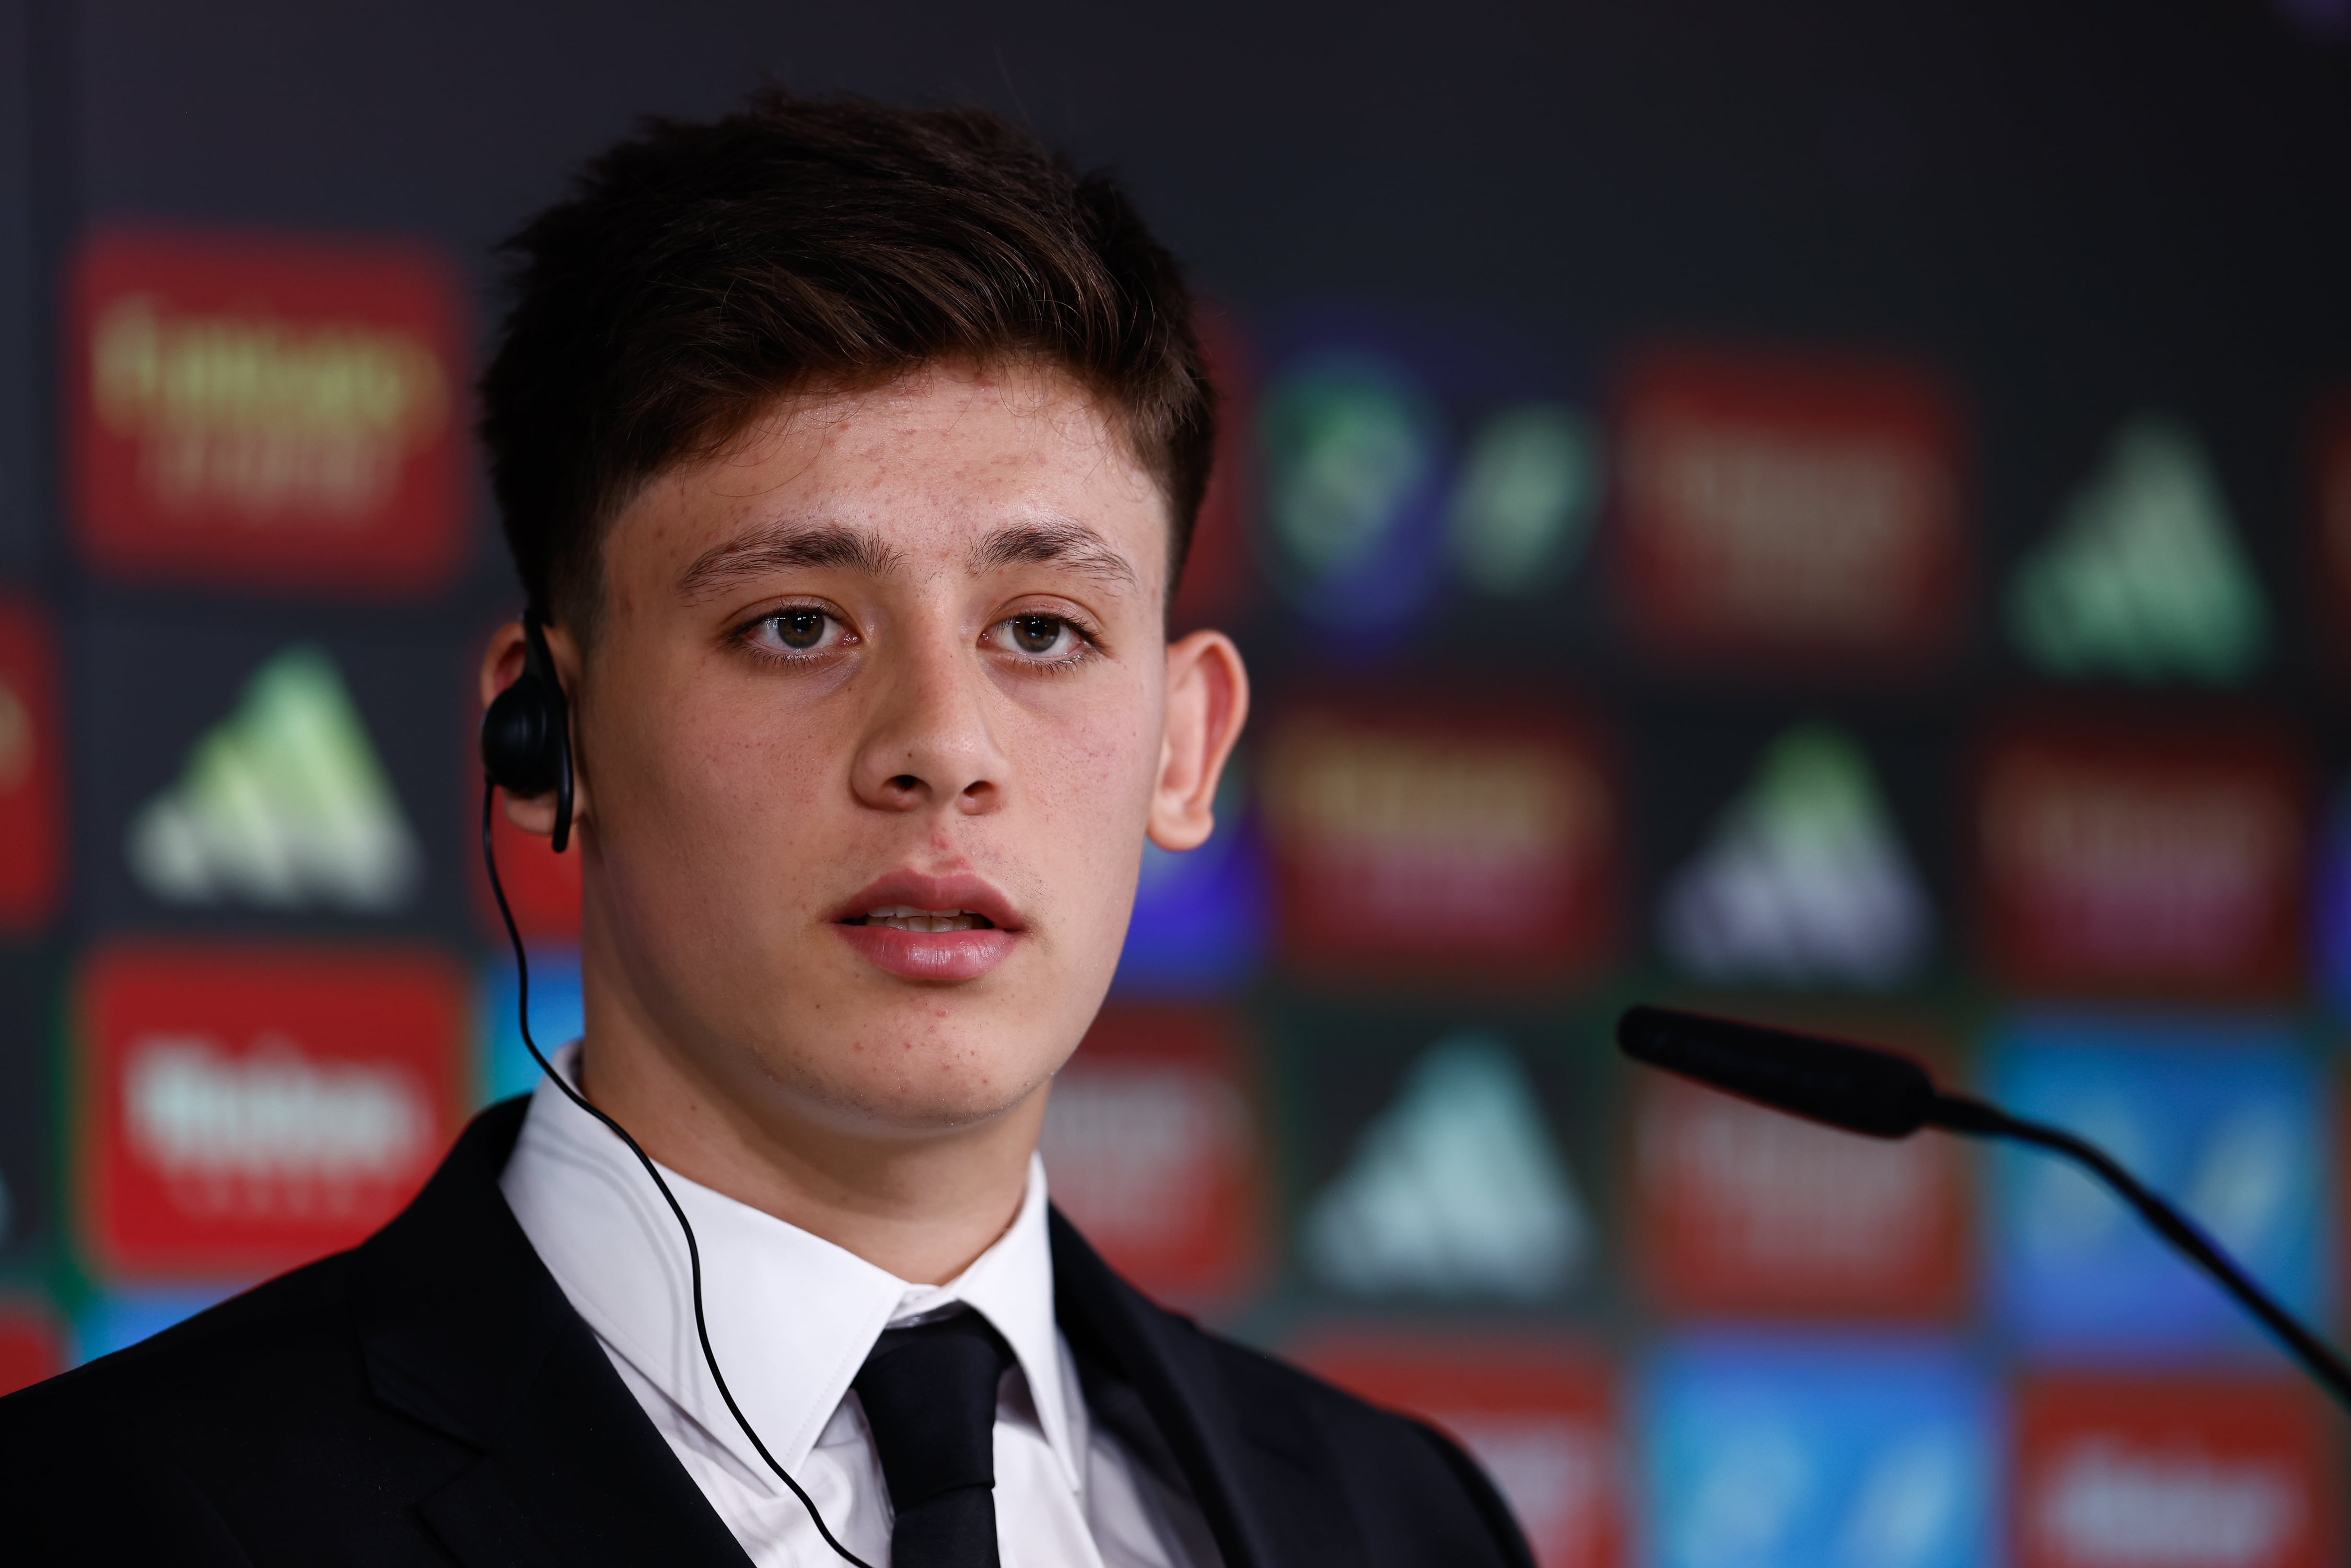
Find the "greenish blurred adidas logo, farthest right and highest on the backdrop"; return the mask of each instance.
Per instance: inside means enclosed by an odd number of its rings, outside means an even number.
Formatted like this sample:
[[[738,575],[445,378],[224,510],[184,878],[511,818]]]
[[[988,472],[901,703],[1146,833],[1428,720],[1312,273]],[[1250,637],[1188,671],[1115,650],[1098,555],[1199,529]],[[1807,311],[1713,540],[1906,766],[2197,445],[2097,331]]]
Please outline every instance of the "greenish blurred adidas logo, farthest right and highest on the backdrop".
[[[2196,437],[2142,416],[2067,503],[2008,592],[2017,651],[2048,675],[2212,686],[2252,672],[2269,609]]]

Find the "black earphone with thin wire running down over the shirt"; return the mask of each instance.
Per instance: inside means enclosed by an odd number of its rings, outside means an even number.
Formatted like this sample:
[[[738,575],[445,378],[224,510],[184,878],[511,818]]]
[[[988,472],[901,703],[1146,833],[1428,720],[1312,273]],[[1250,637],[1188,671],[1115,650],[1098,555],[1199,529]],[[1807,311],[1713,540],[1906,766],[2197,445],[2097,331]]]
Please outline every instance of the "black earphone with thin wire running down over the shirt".
[[[694,1239],[694,1222],[686,1220],[686,1211],[679,1208],[677,1194],[670,1192],[670,1182],[661,1180],[661,1168],[644,1147],[628,1135],[628,1128],[607,1117],[602,1110],[588,1103],[581,1091],[564,1081],[564,1074],[555,1072],[555,1063],[545,1058],[538,1041],[531,1039],[531,961],[522,952],[522,931],[515,926],[515,912],[505,905],[505,884],[498,882],[498,853],[489,839],[491,811],[498,806],[498,790],[508,795],[531,799],[555,792],[555,853],[562,853],[571,842],[571,703],[564,701],[564,686],[555,677],[555,658],[548,654],[548,635],[541,625],[536,609],[522,611],[522,675],[508,684],[482,715],[482,865],[489,870],[489,891],[498,900],[498,919],[505,922],[505,940],[515,945],[515,1009],[522,1023],[522,1046],[538,1063],[538,1070],[555,1081],[564,1095],[578,1105],[583,1112],[611,1128],[611,1135],[628,1145],[628,1152],[637,1157],[644,1173],[654,1178],[654,1187],[661,1190],[663,1201],[668,1201],[670,1213],[677,1215],[677,1229],[686,1234],[686,1265],[694,1279],[694,1333],[703,1340],[703,1363],[710,1368],[710,1380],[719,1385],[719,1399],[726,1401],[726,1410],[743,1427],[743,1436],[750,1446],[759,1450],[766,1467],[776,1472],[776,1479],[792,1488],[799,1505],[809,1509],[809,1519],[816,1523],[816,1533],[825,1537],[825,1544],[853,1568],[872,1568],[863,1556],[844,1547],[832,1537],[832,1528],[825,1526],[825,1516],[816,1512],[816,1500],[802,1490],[776,1455],[766,1450],[759,1434],[752,1432],[750,1418],[743,1415],[743,1406],[734,1401],[734,1389],[726,1387],[726,1375],[719,1371],[719,1356],[710,1349],[710,1324],[703,1319],[703,1248]]]

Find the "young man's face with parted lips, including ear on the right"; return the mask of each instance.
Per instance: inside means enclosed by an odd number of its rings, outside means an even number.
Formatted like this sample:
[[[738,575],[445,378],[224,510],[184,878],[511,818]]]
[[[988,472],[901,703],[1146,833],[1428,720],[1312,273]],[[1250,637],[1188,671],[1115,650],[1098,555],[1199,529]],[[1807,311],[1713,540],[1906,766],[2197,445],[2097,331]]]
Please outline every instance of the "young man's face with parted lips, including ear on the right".
[[[1034,1100],[1145,835],[1208,835],[1246,712],[1225,637],[1164,639],[1166,541],[1103,414],[1032,369],[790,400],[651,480],[585,665],[557,646],[590,1051],[837,1131]]]

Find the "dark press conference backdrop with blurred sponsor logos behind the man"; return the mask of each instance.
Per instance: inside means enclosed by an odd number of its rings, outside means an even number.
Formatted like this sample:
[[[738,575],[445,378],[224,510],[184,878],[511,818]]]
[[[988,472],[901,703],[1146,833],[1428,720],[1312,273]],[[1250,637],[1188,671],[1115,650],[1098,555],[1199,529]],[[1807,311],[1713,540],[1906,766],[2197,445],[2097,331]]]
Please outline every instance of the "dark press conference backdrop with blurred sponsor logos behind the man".
[[[766,75],[1117,162],[1215,301],[1262,698],[1053,1091],[1114,1262],[1547,1568],[2344,1561],[2342,1418],[2083,1178],[1606,1025],[1911,1048],[2351,1328],[2351,7],[1566,9],[0,2],[0,1382],[529,1088],[489,247]]]

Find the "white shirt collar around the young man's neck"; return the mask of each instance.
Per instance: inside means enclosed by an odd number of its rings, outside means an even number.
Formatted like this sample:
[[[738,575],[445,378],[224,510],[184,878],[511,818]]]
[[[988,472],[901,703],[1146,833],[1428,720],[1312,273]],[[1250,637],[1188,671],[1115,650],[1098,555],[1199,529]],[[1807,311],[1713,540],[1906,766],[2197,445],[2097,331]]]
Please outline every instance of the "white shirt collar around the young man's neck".
[[[578,1044],[555,1053],[574,1079]],[[1030,1157],[1020,1213],[945,1286],[912,1286],[820,1237],[661,1168],[694,1220],[703,1314],[726,1387],[788,1469],[809,1458],[875,1340],[893,1321],[962,1302],[1011,1345],[1037,1422],[1070,1488],[1084,1467],[1053,1324],[1053,1253],[1044,1161]],[[555,1084],[531,1093],[515,1154],[498,1180],[531,1248],[604,1345],[691,1415],[759,1481],[694,1331],[686,1241],[637,1157]]]

